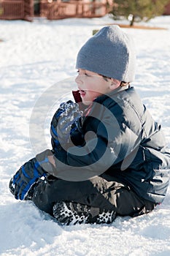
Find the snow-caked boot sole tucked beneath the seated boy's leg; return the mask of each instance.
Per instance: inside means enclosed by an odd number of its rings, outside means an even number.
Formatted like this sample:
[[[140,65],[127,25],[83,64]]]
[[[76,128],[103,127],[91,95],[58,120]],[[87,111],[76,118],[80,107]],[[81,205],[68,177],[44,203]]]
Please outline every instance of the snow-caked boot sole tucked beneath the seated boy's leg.
[[[53,216],[61,225],[82,223],[111,223],[115,219],[115,211],[101,210],[80,203],[58,202],[53,206]]]

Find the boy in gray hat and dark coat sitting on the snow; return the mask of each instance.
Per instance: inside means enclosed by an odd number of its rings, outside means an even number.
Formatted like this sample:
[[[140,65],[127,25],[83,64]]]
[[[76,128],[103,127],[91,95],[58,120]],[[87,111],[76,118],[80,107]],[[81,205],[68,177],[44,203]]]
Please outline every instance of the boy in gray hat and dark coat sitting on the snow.
[[[118,26],[82,46],[73,92],[80,103],[58,108],[53,150],[26,162],[9,183],[16,199],[32,200],[63,225],[136,217],[163,201],[170,153],[161,126],[130,86],[135,59],[133,40]]]

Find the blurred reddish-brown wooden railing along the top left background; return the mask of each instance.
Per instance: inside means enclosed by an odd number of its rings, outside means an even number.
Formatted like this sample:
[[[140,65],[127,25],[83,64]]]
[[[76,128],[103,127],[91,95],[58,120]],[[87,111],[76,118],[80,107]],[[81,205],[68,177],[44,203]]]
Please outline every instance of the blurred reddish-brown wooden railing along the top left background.
[[[99,1],[40,1],[40,16],[49,20],[62,18],[95,18],[107,13],[107,4]],[[32,20],[34,0],[0,0],[0,19]]]

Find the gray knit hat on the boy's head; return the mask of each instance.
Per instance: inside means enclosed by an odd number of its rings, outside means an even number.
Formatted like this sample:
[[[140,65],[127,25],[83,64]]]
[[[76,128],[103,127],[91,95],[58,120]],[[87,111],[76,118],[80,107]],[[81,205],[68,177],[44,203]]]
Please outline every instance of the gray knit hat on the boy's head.
[[[77,69],[132,82],[135,76],[134,41],[119,26],[105,26],[88,39],[77,55]]]

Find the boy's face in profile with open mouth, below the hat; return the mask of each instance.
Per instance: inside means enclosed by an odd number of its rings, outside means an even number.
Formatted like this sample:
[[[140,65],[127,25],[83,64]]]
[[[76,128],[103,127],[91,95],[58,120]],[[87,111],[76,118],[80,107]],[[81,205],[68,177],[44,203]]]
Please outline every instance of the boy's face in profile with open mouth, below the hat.
[[[102,94],[108,94],[118,87],[114,86],[113,79],[105,80],[102,75],[98,75],[95,72],[86,69],[78,69],[78,73],[75,81],[80,90],[82,102],[85,105],[90,105],[96,97]]]

